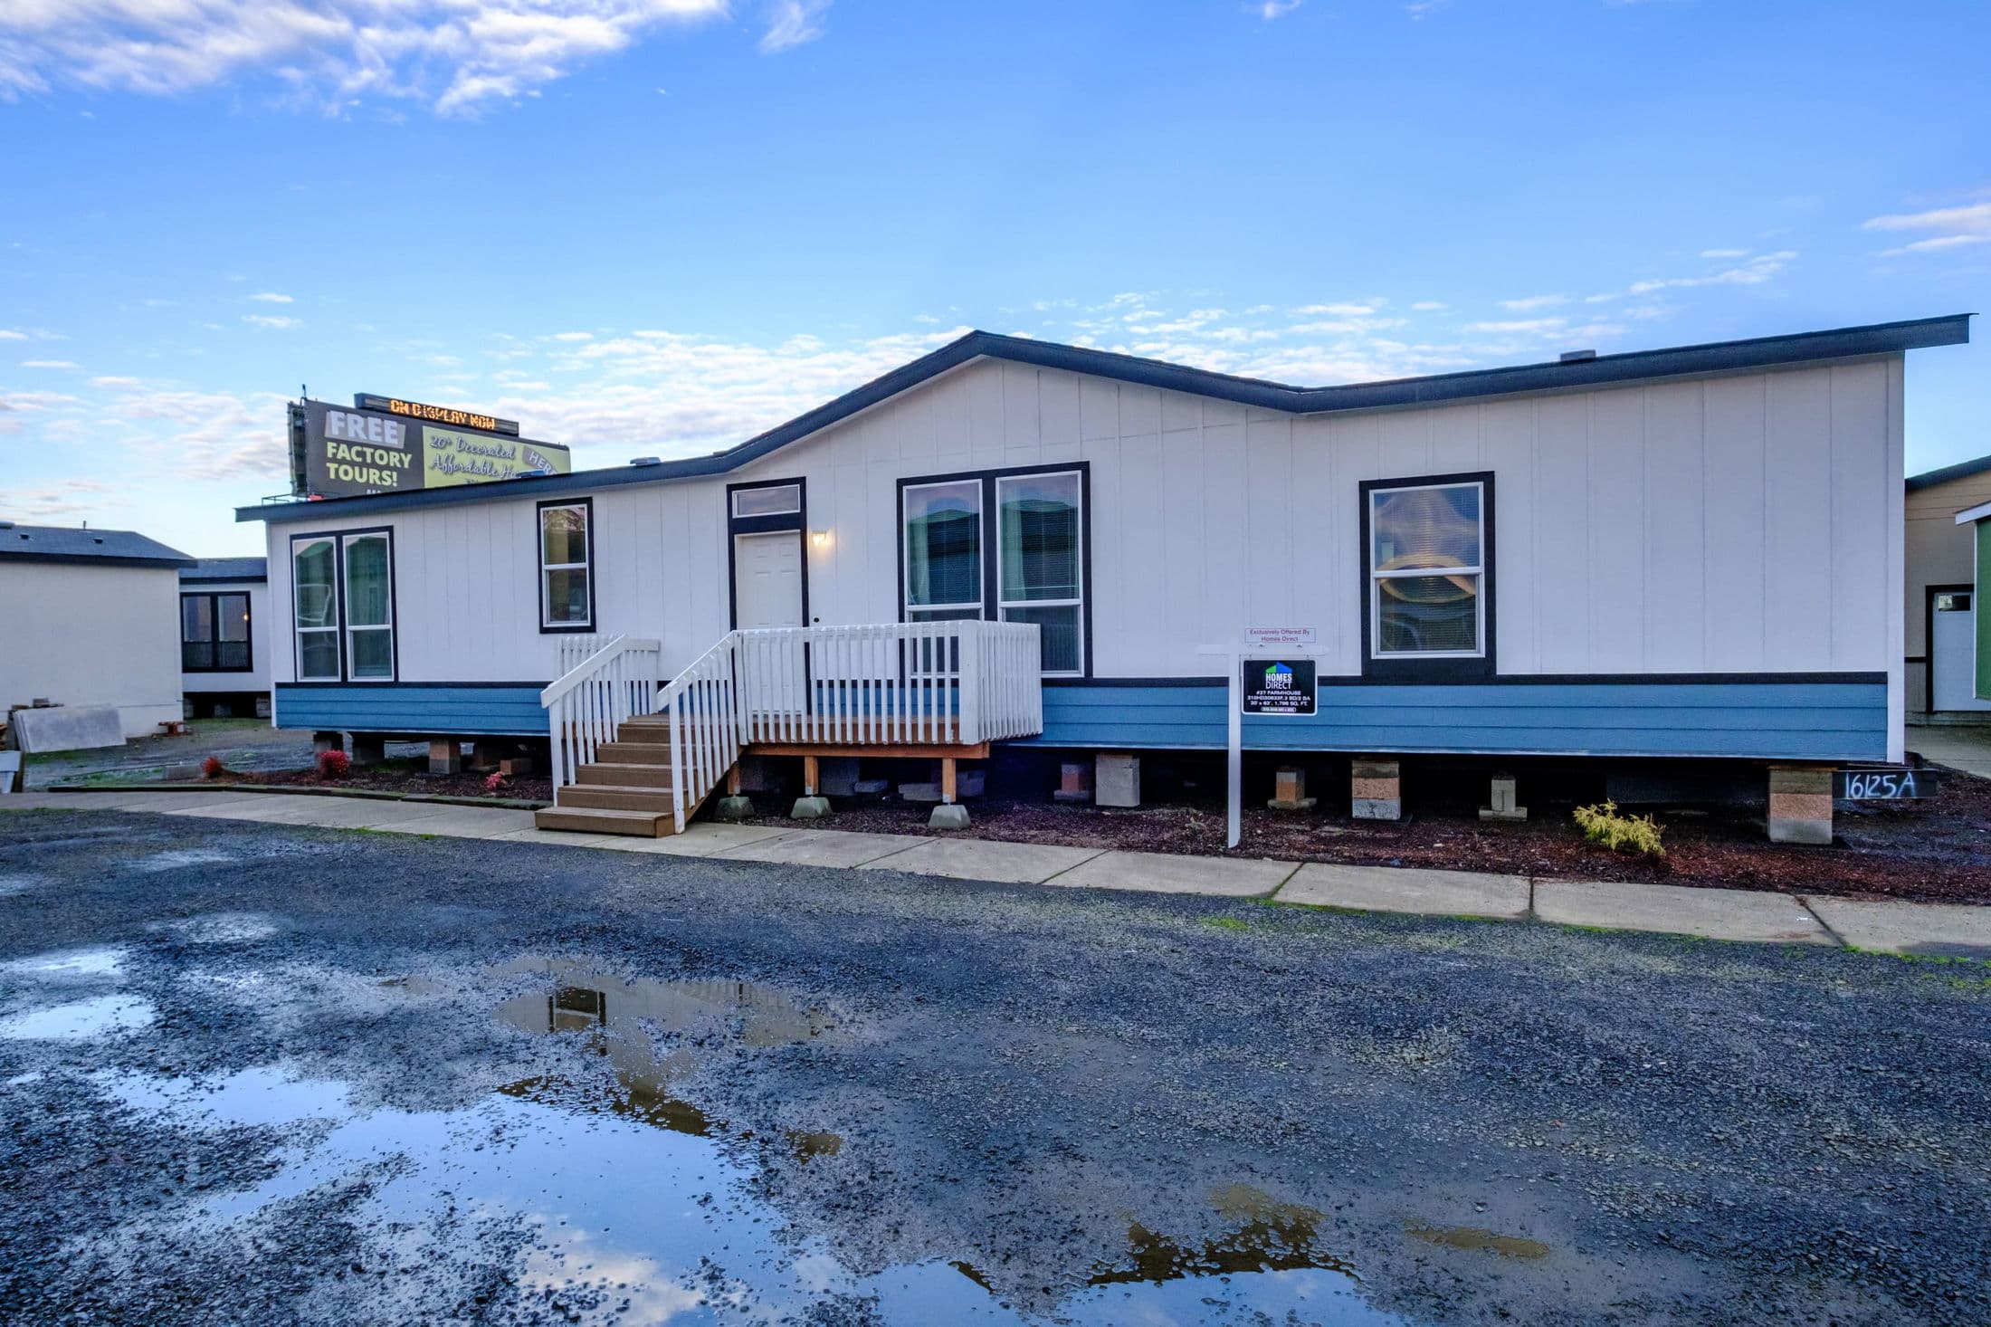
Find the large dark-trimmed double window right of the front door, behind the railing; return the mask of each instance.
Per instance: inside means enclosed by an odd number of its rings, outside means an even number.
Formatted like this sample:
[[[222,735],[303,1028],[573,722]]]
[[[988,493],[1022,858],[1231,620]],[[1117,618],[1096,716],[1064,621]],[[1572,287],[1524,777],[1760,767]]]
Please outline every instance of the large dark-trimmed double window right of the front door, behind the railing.
[[[1085,522],[1085,466],[902,480],[904,620],[1031,622],[1043,671],[1083,675]]]

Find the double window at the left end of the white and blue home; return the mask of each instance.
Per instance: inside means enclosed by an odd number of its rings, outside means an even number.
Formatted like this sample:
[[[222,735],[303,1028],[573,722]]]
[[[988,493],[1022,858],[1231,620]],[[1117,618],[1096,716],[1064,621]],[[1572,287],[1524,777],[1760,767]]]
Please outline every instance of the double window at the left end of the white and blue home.
[[[394,542],[386,530],[291,540],[299,681],[394,679]]]

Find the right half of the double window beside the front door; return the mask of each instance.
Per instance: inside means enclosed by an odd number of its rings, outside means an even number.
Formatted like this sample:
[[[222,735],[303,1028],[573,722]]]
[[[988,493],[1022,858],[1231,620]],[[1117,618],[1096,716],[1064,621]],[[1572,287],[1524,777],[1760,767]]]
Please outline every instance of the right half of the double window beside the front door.
[[[1077,472],[997,478],[996,510],[1001,528],[996,560],[1001,620],[1037,624],[1043,671],[1083,671]]]

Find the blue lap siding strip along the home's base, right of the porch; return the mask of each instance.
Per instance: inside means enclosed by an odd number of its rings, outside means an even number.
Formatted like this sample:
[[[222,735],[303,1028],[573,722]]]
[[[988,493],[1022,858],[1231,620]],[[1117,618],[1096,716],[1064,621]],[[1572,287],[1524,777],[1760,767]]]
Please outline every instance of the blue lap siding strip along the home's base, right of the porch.
[[[1043,747],[1222,749],[1224,685],[1045,687]],[[1248,751],[1887,759],[1887,683],[1324,685],[1312,717],[1244,717]]]

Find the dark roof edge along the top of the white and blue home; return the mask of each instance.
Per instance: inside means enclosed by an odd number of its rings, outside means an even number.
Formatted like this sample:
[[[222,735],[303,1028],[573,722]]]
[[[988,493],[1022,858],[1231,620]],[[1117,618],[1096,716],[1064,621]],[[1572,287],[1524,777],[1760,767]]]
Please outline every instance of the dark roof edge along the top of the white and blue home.
[[[1784,337],[1752,337],[1748,341],[1714,341],[1706,345],[1662,351],[1627,351],[1571,363],[1517,365],[1509,369],[1469,369],[1420,379],[1386,383],[1352,383],[1346,387],[1288,387],[1262,379],[1240,379],[1209,369],[1167,365],[1157,359],[1093,351],[1055,341],[1005,337],[972,331],[948,345],[922,355],[870,383],[828,400],[814,410],[796,414],[739,446],[709,456],[667,460],[653,466],[617,466],[605,470],[575,470],[538,478],[498,480],[492,484],[462,484],[454,488],[418,488],[360,498],[327,498],[321,502],[281,502],[235,508],[235,520],[267,520],[287,524],[297,520],[336,520],[336,512],[396,512],[414,506],[452,506],[460,502],[502,502],[508,498],[557,498],[593,492],[617,484],[653,484],[663,480],[699,478],[737,470],[769,452],[796,442],[810,432],[844,420],[858,410],[918,387],[972,359],[1007,359],[1039,369],[1065,369],[1117,379],[1141,387],[1215,397],[1236,404],[1290,414],[1322,414],[1330,410],[1380,410],[1390,406],[1439,404],[1475,397],[1505,397],[1515,393],[1567,391],[1605,387],[1611,383],[1641,383],[1690,375],[1746,373],[1772,365],[1792,365],[1822,359],[1860,359],[1868,355],[1899,355],[1937,345],[1963,345],[1971,339],[1969,313],[1868,327],[1838,327],[1830,331],[1794,333]]]

